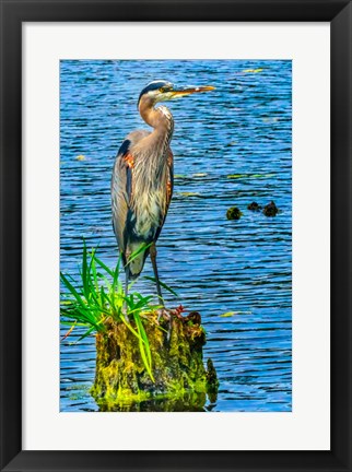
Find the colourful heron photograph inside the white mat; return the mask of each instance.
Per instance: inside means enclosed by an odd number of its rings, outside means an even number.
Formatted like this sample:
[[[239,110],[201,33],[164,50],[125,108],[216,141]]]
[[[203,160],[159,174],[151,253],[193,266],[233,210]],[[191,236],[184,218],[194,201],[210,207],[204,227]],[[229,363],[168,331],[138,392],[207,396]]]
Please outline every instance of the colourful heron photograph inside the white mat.
[[[60,60],[60,412],[292,412],[292,60]]]

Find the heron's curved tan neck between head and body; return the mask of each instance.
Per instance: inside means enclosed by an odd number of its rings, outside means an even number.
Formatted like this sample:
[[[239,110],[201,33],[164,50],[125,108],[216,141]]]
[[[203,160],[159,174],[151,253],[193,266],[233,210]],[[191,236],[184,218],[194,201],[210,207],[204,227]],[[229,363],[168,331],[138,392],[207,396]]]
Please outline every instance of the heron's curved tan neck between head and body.
[[[165,106],[154,108],[154,103],[151,99],[142,97],[139,104],[139,113],[146,125],[154,128],[154,131],[148,138],[150,144],[154,145],[154,149],[160,148],[165,151],[174,131],[174,118],[169,109]]]

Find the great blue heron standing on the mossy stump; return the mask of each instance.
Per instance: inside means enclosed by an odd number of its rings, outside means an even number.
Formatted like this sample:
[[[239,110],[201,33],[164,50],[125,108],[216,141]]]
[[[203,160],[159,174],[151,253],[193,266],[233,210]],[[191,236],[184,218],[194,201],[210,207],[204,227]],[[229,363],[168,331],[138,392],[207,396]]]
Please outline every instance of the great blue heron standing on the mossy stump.
[[[212,86],[174,88],[169,82],[150,82],[141,92],[138,109],[152,132],[138,130],[129,133],[120,146],[113,170],[113,226],[128,281],[137,279],[146,257],[151,256],[157,295],[163,303],[156,267],[155,243],[160,236],[174,187],[174,162],[169,143],[174,118],[160,102],[211,91]],[[146,247],[128,263],[132,252]]]

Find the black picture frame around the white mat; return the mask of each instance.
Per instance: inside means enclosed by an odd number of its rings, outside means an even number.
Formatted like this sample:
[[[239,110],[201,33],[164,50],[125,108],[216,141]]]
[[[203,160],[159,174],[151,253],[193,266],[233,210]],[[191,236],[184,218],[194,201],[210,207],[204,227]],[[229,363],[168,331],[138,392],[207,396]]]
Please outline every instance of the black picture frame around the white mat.
[[[351,471],[351,3],[344,0],[0,0],[0,5],[1,471]],[[22,450],[22,23],[34,21],[331,22],[330,451]]]

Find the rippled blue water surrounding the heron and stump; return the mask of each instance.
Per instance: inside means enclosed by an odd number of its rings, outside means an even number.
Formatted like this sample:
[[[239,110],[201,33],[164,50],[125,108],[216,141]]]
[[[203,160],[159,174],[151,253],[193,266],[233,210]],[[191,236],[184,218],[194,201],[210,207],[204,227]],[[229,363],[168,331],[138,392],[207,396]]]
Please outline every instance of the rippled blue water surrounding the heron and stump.
[[[180,298],[165,294],[168,305],[201,312],[218,370],[218,398],[197,405],[291,411],[291,61],[61,61],[61,270],[77,273],[82,236],[115,266],[113,163],[126,134],[145,127],[138,95],[160,78],[216,87],[168,104],[175,189],[159,239],[162,280]],[[247,210],[271,200],[275,217]],[[239,221],[226,220],[233,205]],[[143,279],[136,288],[154,290]],[[97,411],[95,339],[68,345],[79,334],[61,343],[61,411]]]

